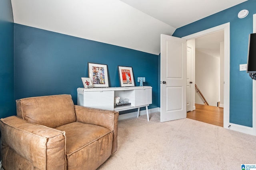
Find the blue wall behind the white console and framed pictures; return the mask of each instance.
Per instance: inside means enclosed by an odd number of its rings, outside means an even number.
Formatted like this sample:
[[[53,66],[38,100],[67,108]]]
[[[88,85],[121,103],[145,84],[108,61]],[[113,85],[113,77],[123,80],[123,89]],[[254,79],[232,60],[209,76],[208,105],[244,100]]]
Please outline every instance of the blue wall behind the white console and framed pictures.
[[[146,77],[144,86],[152,86],[149,108],[158,107],[158,55],[16,23],[14,35],[15,99],[71,94],[77,104],[87,63],[98,63],[108,65],[110,87],[120,87],[118,66],[131,66],[135,86],[140,85],[137,77]]]

